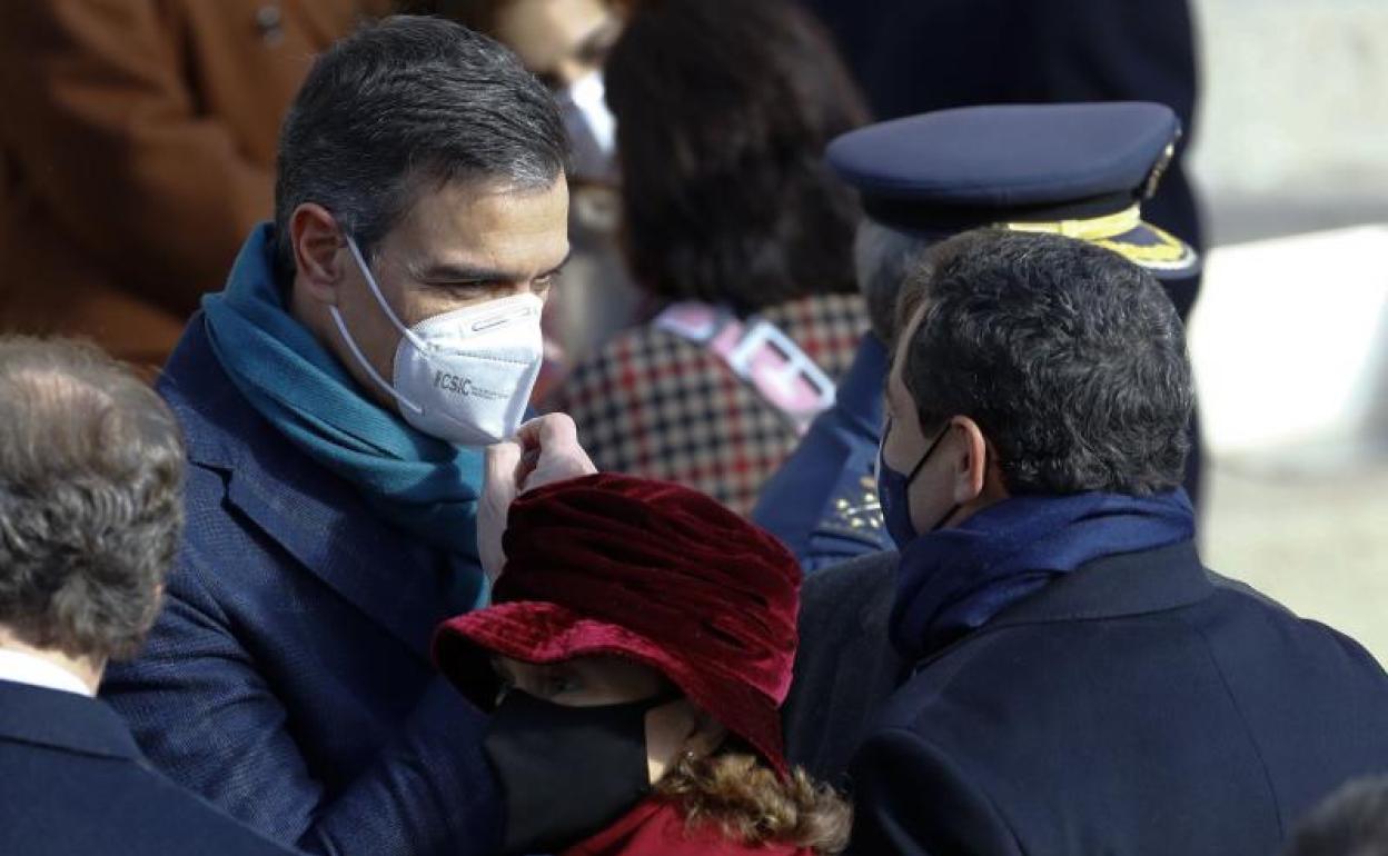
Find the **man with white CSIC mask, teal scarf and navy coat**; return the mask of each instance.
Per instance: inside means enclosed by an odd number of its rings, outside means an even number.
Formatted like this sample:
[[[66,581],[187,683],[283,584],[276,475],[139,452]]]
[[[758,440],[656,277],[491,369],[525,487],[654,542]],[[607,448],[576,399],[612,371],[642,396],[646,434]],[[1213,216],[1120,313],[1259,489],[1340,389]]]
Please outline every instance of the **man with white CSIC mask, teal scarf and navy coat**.
[[[428,645],[486,599],[480,447],[525,412],[566,215],[550,93],[455,24],[389,19],[318,60],[275,222],[165,368],[190,524],[104,694],[155,766],[272,838],[493,848],[482,717]]]

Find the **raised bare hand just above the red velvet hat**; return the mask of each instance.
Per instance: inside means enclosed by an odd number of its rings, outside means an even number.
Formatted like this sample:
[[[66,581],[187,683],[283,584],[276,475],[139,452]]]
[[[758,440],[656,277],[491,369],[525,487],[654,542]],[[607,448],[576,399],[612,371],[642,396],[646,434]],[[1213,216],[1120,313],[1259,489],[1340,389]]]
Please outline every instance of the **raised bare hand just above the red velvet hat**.
[[[482,508],[477,509],[477,554],[487,577],[505,567],[501,536],[507,512],[522,493],[554,481],[598,472],[579,445],[579,430],[565,413],[548,413],[520,426],[515,440],[487,447]]]

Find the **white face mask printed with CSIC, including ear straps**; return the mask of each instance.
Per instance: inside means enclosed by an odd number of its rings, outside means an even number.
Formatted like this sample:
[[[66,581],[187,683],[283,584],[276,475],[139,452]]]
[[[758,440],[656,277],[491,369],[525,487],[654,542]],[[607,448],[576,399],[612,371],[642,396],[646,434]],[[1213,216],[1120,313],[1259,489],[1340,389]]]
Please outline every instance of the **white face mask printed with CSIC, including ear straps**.
[[[337,330],[361,368],[400,402],[405,422],[455,445],[487,445],[515,436],[544,359],[544,301],[515,294],[426,318],[405,327],[386,302],[357,241],[347,247],[376,302],[396,329],[396,382],[372,368],[330,307]]]

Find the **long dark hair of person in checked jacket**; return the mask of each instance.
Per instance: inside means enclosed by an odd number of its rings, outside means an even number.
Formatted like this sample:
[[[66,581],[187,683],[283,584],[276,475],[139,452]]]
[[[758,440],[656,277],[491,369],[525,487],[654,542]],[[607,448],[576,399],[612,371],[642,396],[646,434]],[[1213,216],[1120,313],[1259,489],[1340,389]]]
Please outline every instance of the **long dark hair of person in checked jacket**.
[[[854,290],[856,203],[823,154],[866,111],[809,12],[786,0],[641,4],[605,74],[643,287],[744,315]]]

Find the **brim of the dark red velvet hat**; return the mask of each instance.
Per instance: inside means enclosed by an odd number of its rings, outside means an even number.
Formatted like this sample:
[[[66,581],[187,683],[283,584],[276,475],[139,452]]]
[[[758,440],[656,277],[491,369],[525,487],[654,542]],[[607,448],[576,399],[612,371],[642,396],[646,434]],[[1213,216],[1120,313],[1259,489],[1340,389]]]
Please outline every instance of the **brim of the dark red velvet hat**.
[[[650,666],[745,739],[777,773],[786,774],[780,712],[769,696],[733,676],[694,669],[625,627],[580,616],[558,604],[512,601],[450,619],[434,633],[433,659],[439,670],[483,710],[496,708],[501,687],[491,666],[494,655],[525,663],[611,655]]]

